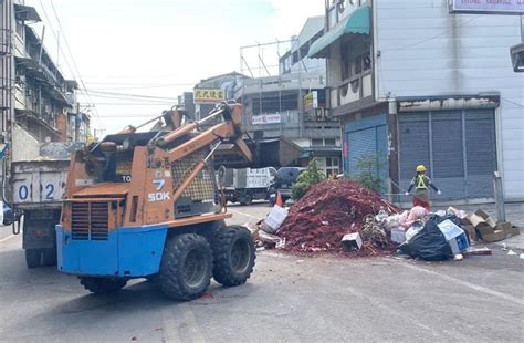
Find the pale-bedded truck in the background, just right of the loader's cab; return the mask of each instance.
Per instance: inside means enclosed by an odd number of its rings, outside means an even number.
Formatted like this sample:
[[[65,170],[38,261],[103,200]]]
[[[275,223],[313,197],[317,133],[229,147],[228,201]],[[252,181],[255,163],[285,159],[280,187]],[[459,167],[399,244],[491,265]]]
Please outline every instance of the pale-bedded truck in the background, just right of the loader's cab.
[[[242,168],[233,169],[221,167],[219,169],[219,184],[227,201],[251,205],[253,200],[269,199],[268,189],[276,175],[276,169]]]

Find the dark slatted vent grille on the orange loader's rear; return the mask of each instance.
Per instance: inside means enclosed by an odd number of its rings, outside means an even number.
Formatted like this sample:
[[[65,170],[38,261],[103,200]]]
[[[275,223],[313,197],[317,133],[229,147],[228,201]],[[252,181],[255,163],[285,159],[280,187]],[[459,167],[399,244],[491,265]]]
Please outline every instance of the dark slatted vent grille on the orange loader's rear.
[[[72,202],[71,233],[75,240],[107,240],[109,233],[109,202]]]

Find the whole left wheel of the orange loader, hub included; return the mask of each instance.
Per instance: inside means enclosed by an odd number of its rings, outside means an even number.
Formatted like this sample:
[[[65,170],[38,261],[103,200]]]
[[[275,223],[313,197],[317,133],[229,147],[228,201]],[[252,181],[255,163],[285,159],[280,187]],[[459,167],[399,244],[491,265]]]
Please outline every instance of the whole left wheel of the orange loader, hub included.
[[[203,236],[185,233],[170,238],[160,263],[161,291],[176,300],[199,298],[211,282],[212,263],[211,247]]]

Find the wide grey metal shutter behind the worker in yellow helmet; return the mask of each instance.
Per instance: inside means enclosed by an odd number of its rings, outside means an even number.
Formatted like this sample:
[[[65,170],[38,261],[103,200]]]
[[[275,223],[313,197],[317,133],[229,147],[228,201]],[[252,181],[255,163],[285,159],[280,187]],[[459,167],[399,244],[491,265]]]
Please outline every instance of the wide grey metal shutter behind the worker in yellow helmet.
[[[400,186],[423,164],[441,199],[493,197],[496,169],[493,110],[399,115]]]

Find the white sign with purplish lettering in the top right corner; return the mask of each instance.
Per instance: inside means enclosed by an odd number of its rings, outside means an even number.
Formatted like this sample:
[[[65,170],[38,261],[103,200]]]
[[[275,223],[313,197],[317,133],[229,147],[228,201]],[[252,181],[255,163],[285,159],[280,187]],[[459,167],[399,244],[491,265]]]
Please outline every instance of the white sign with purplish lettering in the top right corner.
[[[524,14],[524,0],[449,0],[451,13]]]

